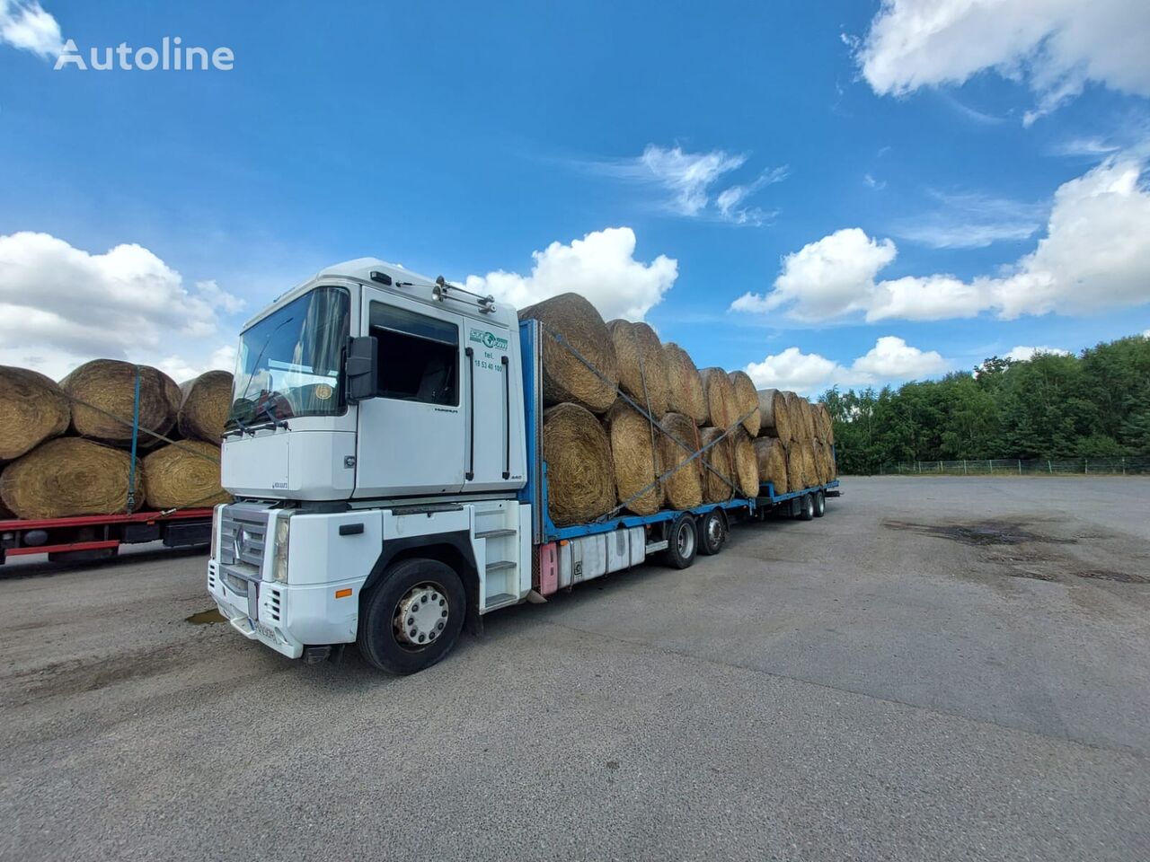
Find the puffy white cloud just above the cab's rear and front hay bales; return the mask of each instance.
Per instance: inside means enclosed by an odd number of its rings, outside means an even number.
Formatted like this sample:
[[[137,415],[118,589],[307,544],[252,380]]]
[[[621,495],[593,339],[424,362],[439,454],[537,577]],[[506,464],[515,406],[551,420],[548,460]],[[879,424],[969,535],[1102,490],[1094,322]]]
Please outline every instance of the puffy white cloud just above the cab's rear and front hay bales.
[[[650,263],[635,260],[635,231],[630,228],[593,231],[570,245],[552,243],[531,256],[535,264],[530,275],[499,270],[468,276],[467,290],[491,293],[516,308],[574,291],[590,300],[605,320],[639,321],[678,276],[677,261],[666,255]]]

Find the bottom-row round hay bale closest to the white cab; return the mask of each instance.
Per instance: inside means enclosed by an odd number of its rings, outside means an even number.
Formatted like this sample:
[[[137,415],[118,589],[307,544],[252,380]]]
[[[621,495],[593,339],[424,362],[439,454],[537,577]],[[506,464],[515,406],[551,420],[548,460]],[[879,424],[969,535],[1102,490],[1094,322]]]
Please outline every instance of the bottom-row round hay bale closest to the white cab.
[[[547,511],[558,526],[597,518],[615,507],[611,441],[586,408],[557,405],[543,413]]]

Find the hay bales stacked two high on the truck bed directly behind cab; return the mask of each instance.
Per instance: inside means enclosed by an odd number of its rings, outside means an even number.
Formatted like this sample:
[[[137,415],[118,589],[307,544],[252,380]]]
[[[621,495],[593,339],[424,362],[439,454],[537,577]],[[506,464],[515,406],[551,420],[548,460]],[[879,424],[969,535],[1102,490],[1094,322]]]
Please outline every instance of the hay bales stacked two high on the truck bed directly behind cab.
[[[555,525],[758,493],[758,393],[745,374],[700,372],[647,324],[604,323],[575,294],[523,309],[520,318],[545,330],[543,456]]]

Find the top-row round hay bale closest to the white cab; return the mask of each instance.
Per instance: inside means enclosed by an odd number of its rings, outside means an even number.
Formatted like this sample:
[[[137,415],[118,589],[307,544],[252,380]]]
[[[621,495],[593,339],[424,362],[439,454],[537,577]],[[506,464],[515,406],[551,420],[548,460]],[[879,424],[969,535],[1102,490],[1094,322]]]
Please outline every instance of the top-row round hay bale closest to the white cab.
[[[619,365],[607,324],[595,306],[577,293],[560,293],[522,309],[519,318],[543,324],[543,402],[576,403],[592,413],[606,413],[615,402]],[[603,377],[547,332],[562,337]]]

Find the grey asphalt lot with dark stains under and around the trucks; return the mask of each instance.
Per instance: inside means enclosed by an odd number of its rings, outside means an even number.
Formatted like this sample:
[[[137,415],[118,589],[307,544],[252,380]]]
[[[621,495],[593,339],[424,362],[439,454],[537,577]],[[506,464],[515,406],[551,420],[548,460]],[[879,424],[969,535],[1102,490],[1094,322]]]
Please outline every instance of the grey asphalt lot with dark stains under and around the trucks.
[[[846,478],[389,678],[0,570],[0,859],[1150,859],[1150,480]]]

